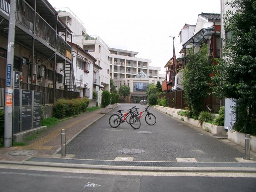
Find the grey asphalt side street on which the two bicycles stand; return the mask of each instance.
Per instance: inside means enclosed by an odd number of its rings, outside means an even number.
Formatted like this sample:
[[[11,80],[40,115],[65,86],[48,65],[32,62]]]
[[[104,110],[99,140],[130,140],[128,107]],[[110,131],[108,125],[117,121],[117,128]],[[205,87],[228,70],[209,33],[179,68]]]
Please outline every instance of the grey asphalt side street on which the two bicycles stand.
[[[66,153],[79,159],[115,160],[116,157],[131,157],[135,161],[186,159],[197,162],[234,162],[235,157],[244,157],[244,154],[210,137],[207,132],[200,132],[153,108],[151,113],[157,117],[155,125],[146,124],[142,117],[142,125],[137,130],[126,122],[119,128],[111,128],[109,117],[118,109],[127,111],[133,106],[118,105],[67,144]],[[141,111],[145,105],[137,104],[137,107]],[[123,154],[122,149],[139,149],[143,153]]]

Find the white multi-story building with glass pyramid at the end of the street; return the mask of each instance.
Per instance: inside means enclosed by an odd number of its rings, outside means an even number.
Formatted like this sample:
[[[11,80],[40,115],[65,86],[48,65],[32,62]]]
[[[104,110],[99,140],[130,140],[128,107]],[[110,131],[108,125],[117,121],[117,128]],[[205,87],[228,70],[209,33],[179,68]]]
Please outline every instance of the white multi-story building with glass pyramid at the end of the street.
[[[122,85],[130,87],[131,95],[127,102],[137,103],[147,99],[148,84],[157,84],[164,80],[164,75],[159,74],[161,67],[149,66],[151,60],[137,58],[138,52],[109,48],[110,75],[117,89]]]

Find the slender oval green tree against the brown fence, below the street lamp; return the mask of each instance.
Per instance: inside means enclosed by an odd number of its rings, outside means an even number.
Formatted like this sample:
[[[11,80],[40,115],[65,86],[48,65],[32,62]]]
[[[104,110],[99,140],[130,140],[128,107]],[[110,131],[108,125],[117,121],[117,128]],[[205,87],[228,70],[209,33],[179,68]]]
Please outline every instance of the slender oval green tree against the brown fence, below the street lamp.
[[[190,50],[182,83],[184,99],[196,118],[201,111],[203,99],[209,92],[211,66],[212,58],[206,44],[203,44],[196,53]]]

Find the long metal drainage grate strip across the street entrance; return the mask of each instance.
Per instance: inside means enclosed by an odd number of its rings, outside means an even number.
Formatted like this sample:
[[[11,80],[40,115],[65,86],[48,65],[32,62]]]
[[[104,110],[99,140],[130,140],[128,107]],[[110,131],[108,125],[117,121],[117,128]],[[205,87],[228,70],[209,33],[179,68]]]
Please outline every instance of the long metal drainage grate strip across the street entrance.
[[[182,162],[151,162],[151,161],[112,161],[112,160],[83,160],[83,159],[62,159],[47,157],[31,157],[26,161],[44,163],[67,163],[84,165],[106,165],[106,166],[143,166],[143,167],[253,167],[256,163],[240,162],[203,162],[203,163],[182,163]]]

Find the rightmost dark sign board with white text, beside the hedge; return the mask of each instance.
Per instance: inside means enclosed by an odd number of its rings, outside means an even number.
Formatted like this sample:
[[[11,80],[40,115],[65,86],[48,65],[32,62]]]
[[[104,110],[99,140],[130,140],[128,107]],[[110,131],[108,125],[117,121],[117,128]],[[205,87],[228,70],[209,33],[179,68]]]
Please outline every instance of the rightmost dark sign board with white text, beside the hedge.
[[[33,91],[33,128],[41,127],[42,93]]]

